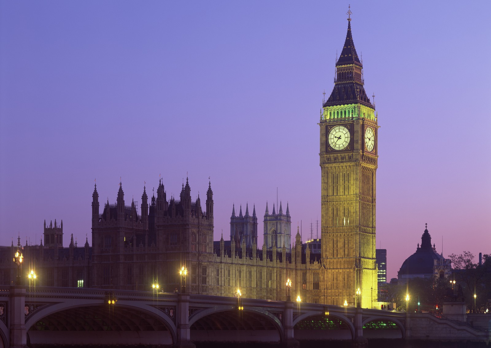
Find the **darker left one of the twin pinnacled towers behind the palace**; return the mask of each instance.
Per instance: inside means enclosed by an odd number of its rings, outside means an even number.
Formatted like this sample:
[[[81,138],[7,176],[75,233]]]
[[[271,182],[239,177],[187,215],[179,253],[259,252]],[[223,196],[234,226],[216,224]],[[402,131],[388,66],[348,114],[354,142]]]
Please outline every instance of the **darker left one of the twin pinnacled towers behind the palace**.
[[[239,249],[242,243],[247,249],[252,245],[257,245],[257,217],[256,206],[253,205],[252,215],[249,215],[249,204],[246,203],[246,215],[242,215],[242,205],[239,215],[235,215],[235,204],[232,207],[230,217],[230,240],[234,239],[236,248]]]

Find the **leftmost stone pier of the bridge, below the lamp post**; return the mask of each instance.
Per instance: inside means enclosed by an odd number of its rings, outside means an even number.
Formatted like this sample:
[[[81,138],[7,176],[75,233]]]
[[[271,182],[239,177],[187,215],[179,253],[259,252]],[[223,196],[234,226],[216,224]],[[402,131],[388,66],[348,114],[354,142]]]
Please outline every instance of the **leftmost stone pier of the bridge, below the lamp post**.
[[[26,347],[26,288],[10,287],[10,348]]]

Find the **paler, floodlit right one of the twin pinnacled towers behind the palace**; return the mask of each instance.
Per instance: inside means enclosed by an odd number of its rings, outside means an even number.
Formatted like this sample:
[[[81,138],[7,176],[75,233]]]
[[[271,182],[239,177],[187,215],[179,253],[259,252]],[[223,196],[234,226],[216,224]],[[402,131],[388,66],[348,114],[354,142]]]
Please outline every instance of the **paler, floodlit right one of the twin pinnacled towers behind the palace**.
[[[290,208],[286,203],[286,213],[283,214],[283,207],[279,203],[279,210],[276,214],[274,203],[273,213],[270,214],[268,203],[264,213],[264,243],[267,249],[286,248],[286,252],[292,249],[292,219]]]

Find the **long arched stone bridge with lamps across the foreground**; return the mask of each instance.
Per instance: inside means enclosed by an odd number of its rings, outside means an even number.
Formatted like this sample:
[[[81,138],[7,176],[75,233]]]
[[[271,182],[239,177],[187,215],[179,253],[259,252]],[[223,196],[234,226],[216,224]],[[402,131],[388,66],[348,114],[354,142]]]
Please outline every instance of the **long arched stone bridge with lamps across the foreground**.
[[[491,317],[491,316],[489,316]],[[487,319],[489,321],[489,318]],[[95,332],[97,331],[97,332]],[[203,342],[484,341],[488,327],[431,314],[205,295],[0,286],[0,348]]]

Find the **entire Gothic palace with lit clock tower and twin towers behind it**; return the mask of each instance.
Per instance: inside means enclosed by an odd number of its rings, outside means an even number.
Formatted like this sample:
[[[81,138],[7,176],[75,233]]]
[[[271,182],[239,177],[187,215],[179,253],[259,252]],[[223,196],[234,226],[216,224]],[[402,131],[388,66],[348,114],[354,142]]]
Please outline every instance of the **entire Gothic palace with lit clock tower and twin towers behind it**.
[[[149,198],[143,187],[138,207],[125,202],[122,183],[115,203],[100,202],[94,186],[91,247],[89,238],[78,246],[73,235],[64,247],[63,223],[45,222],[39,245],[21,247],[18,239],[17,246],[1,247],[1,284],[15,280],[12,257],[22,248],[26,282],[34,269],[39,286],[154,291],[152,285],[159,284],[158,291],[230,297],[240,288],[245,298],[285,300],[290,278],[292,298],[300,296],[302,302],[371,307],[377,294],[378,124],[348,14],[334,87],[318,122],[320,240],[302,241],[298,228],[292,236],[288,204],[266,203],[262,245],[256,206],[247,204],[231,207],[230,235],[214,241],[211,183],[202,202],[199,195],[191,198],[188,179],[179,198],[168,198],[159,180],[157,197]]]

